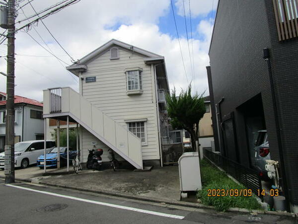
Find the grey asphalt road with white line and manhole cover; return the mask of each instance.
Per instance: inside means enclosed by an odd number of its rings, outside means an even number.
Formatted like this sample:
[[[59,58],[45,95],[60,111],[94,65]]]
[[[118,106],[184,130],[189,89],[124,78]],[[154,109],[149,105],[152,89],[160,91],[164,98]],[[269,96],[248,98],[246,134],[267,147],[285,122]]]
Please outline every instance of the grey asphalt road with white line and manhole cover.
[[[217,213],[0,179],[1,224],[298,224],[291,217]]]

